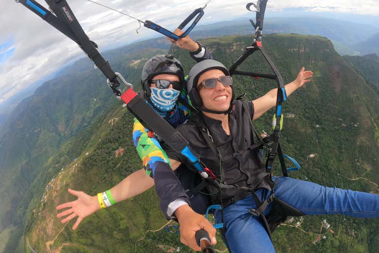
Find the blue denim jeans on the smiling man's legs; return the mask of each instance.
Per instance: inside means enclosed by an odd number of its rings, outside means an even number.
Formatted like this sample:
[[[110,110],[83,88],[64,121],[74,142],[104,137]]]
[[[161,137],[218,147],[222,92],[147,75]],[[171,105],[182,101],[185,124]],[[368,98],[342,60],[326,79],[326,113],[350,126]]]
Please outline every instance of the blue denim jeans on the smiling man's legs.
[[[273,177],[275,181],[276,177]],[[375,194],[320,186],[308,181],[278,177],[274,189],[276,198],[290,204],[306,215],[344,214],[358,218],[379,217],[379,196]],[[259,188],[261,201],[270,191]],[[256,208],[252,196],[248,196],[224,208],[226,238],[232,253],[275,253],[270,237],[260,218],[248,212]],[[268,205],[267,215],[271,204]],[[215,211],[216,222],[221,223],[221,212]]]

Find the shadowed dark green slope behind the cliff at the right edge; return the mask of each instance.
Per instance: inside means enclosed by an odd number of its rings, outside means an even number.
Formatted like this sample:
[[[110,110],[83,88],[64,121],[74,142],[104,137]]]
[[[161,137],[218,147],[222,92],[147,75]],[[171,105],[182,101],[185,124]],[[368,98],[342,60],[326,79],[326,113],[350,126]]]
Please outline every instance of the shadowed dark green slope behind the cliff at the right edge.
[[[347,63],[366,79],[366,83],[379,95],[379,57],[377,54],[364,56],[348,56],[344,59]]]

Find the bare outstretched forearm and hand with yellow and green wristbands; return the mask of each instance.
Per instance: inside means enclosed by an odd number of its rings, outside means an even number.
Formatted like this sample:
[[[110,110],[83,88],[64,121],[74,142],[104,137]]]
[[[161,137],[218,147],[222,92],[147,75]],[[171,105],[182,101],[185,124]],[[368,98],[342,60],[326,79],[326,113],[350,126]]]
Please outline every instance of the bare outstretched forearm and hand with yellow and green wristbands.
[[[144,169],[139,169],[111,188],[110,191],[115,202],[121,202],[145,192],[152,186],[154,186],[154,180],[146,174]],[[84,218],[100,209],[100,204],[97,196],[89,196],[83,191],[69,189],[69,193],[78,197],[78,199],[58,205],[56,207],[57,210],[68,209],[57,214],[56,217],[62,218],[69,215],[61,220],[62,223],[78,217],[72,226],[72,229],[75,230]]]

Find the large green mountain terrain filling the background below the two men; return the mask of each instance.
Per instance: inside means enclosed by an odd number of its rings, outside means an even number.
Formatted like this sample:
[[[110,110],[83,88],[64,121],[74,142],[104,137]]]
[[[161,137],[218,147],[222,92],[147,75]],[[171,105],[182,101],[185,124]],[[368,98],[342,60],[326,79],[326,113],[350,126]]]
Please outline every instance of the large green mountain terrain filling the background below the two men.
[[[252,36],[202,42],[217,60],[231,66],[251,44]],[[268,35],[264,46],[286,83],[302,66],[314,72],[312,82],[284,105],[283,150],[302,165],[291,176],[378,194],[379,98],[367,77],[346,63],[325,37]],[[118,54],[111,65],[138,84],[144,62],[163,51]],[[188,52],[177,48],[171,52],[187,71],[194,64]],[[269,71],[259,54],[241,69]],[[114,99],[97,70],[80,75],[74,68],[70,71],[69,76],[38,89],[1,142],[0,155],[7,154],[0,158],[0,189],[13,197],[5,200],[5,206],[12,209],[0,212],[5,229],[0,242],[7,240],[3,252],[24,253],[34,248],[38,253],[163,253],[178,247],[180,252],[191,252],[180,243],[178,234],[159,230],[167,221],[158,209],[154,190],[98,211],[76,231],[71,229],[72,221],[65,225],[55,218],[57,204],[75,199],[67,193],[68,187],[95,195],[141,168],[132,144],[132,115]],[[275,87],[270,81],[237,76],[234,84],[236,93],[246,92],[249,99]],[[271,113],[255,122],[258,131],[270,132]],[[124,154],[116,157],[120,147]],[[322,225],[324,219],[330,228]],[[175,232],[174,227],[170,229]],[[373,253],[379,246],[378,220],[340,215],[290,219],[274,233],[274,245],[282,253]],[[224,245],[219,243],[217,248],[224,250]]]

